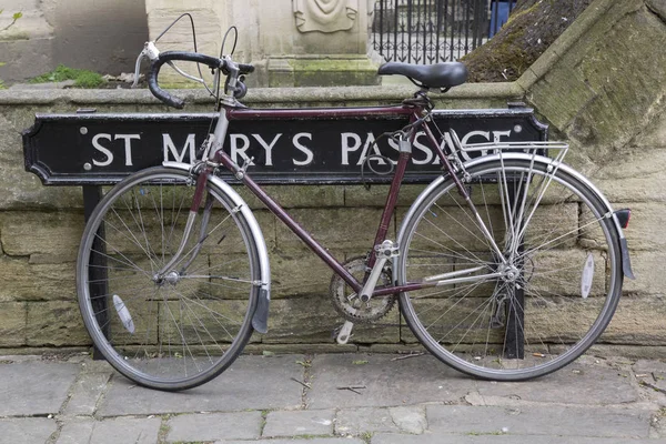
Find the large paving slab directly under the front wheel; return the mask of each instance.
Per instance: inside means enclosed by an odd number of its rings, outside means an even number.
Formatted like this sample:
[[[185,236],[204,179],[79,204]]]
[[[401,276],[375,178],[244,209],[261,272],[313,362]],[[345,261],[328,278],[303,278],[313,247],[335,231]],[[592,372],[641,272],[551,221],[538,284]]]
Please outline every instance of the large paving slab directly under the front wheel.
[[[179,393],[139,387],[114,374],[98,414],[118,416],[299,408],[303,386],[291,380],[303,380],[303,367],[296,361],[303,361],[303,356],[241,356],[213,381]]]

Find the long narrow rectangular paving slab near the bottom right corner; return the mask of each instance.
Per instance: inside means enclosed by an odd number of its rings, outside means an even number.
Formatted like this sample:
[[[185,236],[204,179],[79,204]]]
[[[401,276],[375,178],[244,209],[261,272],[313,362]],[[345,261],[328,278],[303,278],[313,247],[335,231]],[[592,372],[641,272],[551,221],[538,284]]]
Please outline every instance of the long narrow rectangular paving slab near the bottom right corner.
[[[477,407],[428,405],[433,433],[562,435],[591,437],[648,437],[647,411],[562,405]]]

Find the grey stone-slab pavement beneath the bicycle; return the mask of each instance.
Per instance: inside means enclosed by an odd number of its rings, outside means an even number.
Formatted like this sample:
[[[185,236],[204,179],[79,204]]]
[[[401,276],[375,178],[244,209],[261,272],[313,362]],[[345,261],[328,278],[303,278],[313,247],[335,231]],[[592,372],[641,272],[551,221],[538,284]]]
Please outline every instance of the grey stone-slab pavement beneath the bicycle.
[[[398,356],[241,356],[181,393],[87,355],[0,356],[0,443],[666,443],[663,362],[584,356],[494,383]]]

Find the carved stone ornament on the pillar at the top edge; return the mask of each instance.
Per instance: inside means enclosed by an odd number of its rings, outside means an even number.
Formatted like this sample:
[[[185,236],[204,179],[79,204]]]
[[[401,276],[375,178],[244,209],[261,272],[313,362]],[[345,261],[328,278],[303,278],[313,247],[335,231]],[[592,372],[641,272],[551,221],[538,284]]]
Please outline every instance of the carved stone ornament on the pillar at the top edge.
[[[359,12],[359,0],[293,0],[293,6],[301,32],[346,31]]]

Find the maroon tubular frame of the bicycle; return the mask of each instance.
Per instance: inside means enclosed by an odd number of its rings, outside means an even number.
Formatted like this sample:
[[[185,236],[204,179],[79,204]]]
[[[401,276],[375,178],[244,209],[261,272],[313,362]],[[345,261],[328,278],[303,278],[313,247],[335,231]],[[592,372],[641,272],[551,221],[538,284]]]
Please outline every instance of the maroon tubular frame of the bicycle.
[[[225,108],[226,119],[229,121],[234,120],[275,120],[275,119],[337,119],[337,118],[363,118],[363,117],[395,117],[395,115],[405,115],[410,118],[410,123],[414,124],[415,128],[422,127],[425,129],[425,133],[428,142],[432,144],[432,148],[435,150],[437,155],[440,157],[442,164],[444,168],[452,172],[452,165],[440,148],[435,137],[432,131],[427,127],[427,124],[422,124],[423,121],[417,122],[424,115],[425,109],[418,105],[391,105],[391,107],[373,107],[373,108],[320,108],[320,109],[282,109],[282,110],[253,110],[253,109],[242,109],[242,108]],[[402,128],[396,128],[396,131],[402,130]],[[412,133],[414,134],[414,133]],[[412,135],[413,137],[413,135]],[[386,196],[386,203],[384,205],[384,210],[382,212],[382,218],[380,221],[380,225],[377,228],[374,244],[371,249],[371,254],[369,258],[369,266],[372,268],[375,262],[375,251],[374,245],[381,244],[386,239],[386,233],[389,231],[389,226],[391,223],[391,219],[395,211],[395,205],[397,202],[397,196],[400,193],[400,188],[405,174],[405,170],[411,159],[411,152],[401,152],[397,164],[395,165],[395,172],[393,175],[393,180],[391,182],[391,188],[389,190],[389,194]],[[219,150],[216,152],[215,162],[222,164],[229,171],[234,173],[241,182],[252,191],[254,195],[273,213],[278,219],[280,219],[299,239],[301,239],[319,258],[329,265],[335,274],[342,278],[353,290],[354,292],[360,292],[363,287],[363,283],[359,282],[345,268],[342,263],[340,263],[329,251],[322,246],[304,228],[302,228],[296,221],[294,221],[291,215],[278,203],[275,202],[266,192],[252,180],[250,174],[245,173],[243,169],[235,163],[229,154],[226,154],[223,150]],[[455,175],[454,175],[455,176]],[[202,188],[203,189],[203,188]],[[461,189],[462,184],[461,184]],[[203,191],[203,190],[202,190]],[[366,273],[367,274],[367,273]],[[367,279],[367,276],[366,276]],[[435,282],[418,282],[418,283],[407,283],[405,285],[397,286],[377,286],[375,291],[372,293],[373,296],[385,296],[390,294],[395,294],[404,291],[418,290],[427,286],[434,286]]]

